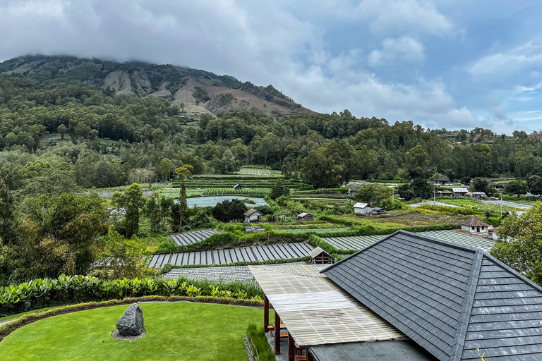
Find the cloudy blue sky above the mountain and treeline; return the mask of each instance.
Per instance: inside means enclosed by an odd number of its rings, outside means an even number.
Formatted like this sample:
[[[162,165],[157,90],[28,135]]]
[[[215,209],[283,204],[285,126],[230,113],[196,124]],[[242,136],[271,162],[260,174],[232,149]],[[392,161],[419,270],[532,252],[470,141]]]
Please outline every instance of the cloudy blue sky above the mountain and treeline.
[[[0,61],[140,60],[426,128],[542,130],[539,0],[0,0]]]

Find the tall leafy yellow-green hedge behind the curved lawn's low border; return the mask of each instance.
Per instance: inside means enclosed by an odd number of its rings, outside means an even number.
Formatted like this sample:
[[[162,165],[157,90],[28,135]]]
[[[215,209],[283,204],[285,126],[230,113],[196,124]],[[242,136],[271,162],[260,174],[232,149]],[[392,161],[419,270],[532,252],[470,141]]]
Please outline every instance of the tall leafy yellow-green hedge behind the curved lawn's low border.
[[[260,300],[262,290],[253,283],[210,283],[177,280],[120,279],[101,280],[89,276],[59,276],[58,279],[35,279],[17,286],[0,288],[0,314],[16,314],[55,305],[103,301],[156,295],[215,296]]]

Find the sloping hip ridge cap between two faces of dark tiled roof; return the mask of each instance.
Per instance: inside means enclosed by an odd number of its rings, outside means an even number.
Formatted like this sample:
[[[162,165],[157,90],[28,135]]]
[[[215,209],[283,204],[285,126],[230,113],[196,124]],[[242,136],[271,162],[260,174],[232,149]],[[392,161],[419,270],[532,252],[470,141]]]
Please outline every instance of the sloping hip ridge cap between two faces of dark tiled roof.
[[[469,329],[469,320],[471,319],[472,305],[474,304],[474,295],[476,295],[476,286],[482,267],[483,255],[485,252],[476,250],[473,257],[471,273],[469,274],[469,283],[466,286],[465,298],[457,324],[457,333],[455,334],[452,355],[450,361],[461,361],[463,347],[465,345],[466,331]]]

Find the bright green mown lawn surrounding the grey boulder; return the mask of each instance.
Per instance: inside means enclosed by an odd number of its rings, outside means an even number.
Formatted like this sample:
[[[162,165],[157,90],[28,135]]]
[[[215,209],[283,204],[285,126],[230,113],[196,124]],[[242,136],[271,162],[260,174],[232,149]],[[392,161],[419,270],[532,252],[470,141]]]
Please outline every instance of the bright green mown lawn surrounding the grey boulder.
[[[127,305],[49,317],[13,331],[0,343],[0,360],[247,360],[241,340],[263,310],[186,302],[142,303],[143,338],[111,336]],[[270,312],[270,317],[272,312]]]

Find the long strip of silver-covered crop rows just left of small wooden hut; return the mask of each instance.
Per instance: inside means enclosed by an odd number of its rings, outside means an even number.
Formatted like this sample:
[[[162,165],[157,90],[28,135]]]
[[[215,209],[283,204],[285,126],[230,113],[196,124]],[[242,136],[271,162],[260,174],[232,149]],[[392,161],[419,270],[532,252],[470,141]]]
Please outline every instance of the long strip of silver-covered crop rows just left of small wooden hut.
[[[236,262],[264,262],[272,259],[293,259],[308,256],[313,250],[308,243],[284,243],[276,245],[255,245],[201,252],[169,253],[152,255],[149,267],[229,264]]]

